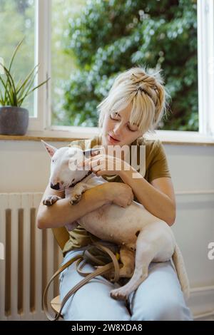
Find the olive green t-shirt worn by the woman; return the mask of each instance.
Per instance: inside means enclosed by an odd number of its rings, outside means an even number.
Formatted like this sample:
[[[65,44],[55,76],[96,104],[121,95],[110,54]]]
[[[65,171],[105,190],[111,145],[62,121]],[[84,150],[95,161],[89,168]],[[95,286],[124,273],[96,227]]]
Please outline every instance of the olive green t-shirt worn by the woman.
[[[165,157],[165,150],[160,140],[146,140],[146,138],[138,138],[131,145],[135,145],[137,155],[136,163],[138,163],[138,169],[136,169],[143,177],[151,183],[152,180],[160,177],[170,177],[170,171],[168,169],[168,163]],[[130,146],[131,146],[130,145]],[[146,148],[145,158],[146,164],[144,164],[143,169],[141,169],[140,164],[140,146],[143,145]],[[73,140],[69,145],[69,147],[81,148],[82,150],[90,149],[90,148],[98,148],[101,146],[101,135],[96,135],[92,139],[88,140]],[[144,149],[145,150],[145,149]],[[132,158],[130,157],[130,162],[132,163]],[[123,182],[121,177],[118,175],[103,175],[102,176],[108,182]],[[134,200],[139,202],[136,196],[134,196]],[[76,229],[68,232],[69,239],[66,242],[63,248],[63,254],[66,254],[71,249],[76,249],[80,247],[84,247],[87,244],[91,243],[91,236],[93,239],[98,239],[94,237],[90,232],[87,232],[80,225],[76,227]]]

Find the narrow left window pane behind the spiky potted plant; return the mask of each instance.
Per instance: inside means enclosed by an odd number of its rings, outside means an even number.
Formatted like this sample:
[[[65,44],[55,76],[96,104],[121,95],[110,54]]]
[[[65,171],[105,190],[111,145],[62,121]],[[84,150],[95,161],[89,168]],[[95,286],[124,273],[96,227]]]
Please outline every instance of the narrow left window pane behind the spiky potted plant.
[[[11,68],[16,82],[24,80],[34,68],[34,14],[34,0],[0,0],[0,57],[5,66],[9,66],[16,45],[25,36]],[[26,98],[22,107],[34,116],[34,94]]]

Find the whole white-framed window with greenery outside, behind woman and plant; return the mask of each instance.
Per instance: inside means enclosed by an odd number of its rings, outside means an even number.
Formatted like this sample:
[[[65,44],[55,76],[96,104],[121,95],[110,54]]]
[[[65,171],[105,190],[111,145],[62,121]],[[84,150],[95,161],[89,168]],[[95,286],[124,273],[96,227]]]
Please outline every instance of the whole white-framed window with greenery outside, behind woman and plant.
[[[37,81],[51,77],[26,100],[29,130],[88,136],[114,77],[146,63],[163,68],[173,98],[159,134],[213,136],[214,1],[168,2],[0,0],[0,57],[26,36],[20,76],[40,63]]]

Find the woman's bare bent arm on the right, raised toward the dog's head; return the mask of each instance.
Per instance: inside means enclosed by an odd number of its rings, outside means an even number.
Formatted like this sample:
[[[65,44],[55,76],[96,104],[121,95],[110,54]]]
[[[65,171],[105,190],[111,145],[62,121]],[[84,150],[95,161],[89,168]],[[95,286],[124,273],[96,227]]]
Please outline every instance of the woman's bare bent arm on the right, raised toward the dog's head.
[[[133,178],[133,173],[138,178]],[[173,183],[169,177],[157,178],[150,184],[133,167],[130,170],[122,170],[120,177],[123,182],[131,186],[139,202],[148,212],[159,217],[169,226],[173,225],[176,205]]]

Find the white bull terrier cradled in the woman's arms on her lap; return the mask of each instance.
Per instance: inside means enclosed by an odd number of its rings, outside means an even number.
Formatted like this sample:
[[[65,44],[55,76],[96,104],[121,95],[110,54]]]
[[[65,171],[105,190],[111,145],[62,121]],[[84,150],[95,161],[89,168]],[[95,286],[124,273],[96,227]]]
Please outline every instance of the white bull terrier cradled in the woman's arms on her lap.
[[[90,155],[93,149],[85,151],[74,147],[56,149],[42,142],[52,158],[51,188],[64,190],[65,197],[70,198],[71,205],[81,200],[84,191],[107,182],[90,170],[77,169],[84,155],[88,153]],[[44,205],[53,205],[59,199],[61,197],[49,195],[44,199]],[[171,228],[166,222],[148,212],[143,205],[135,201],[126,208],[106,204],[71,222],[67,228],[73,230],[78,225],[96,237],[120,246],[120,258],[123,263],[120,277],[131,279],[126,285],[111,291],[111,297],[114,299],[128,299],[128,295],[148,277],[148,266],[151,262],[166,262],[171,257],[181,289],[186,298],[189,296],[188,276],[183,257]]]

